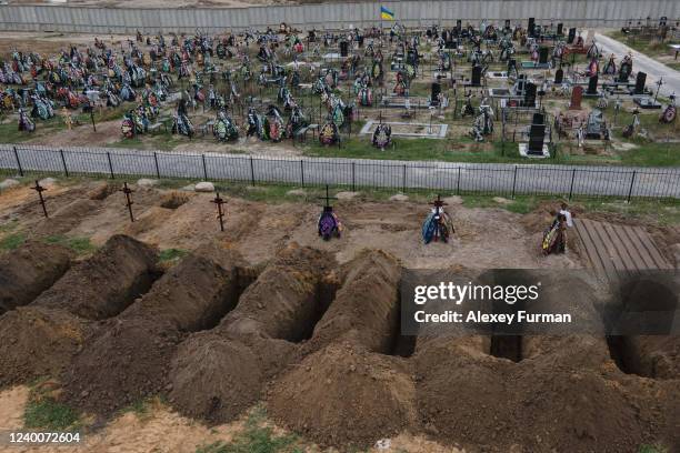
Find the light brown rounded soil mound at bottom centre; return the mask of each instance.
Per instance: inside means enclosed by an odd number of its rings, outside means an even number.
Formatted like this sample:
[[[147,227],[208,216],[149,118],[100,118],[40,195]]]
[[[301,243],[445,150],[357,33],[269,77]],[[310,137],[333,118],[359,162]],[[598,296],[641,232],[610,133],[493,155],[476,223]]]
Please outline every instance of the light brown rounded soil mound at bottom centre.
[[[273,384],[268,413],[320,445],[367,447],[416,423],[406,362],[349,344],[308,355]]]

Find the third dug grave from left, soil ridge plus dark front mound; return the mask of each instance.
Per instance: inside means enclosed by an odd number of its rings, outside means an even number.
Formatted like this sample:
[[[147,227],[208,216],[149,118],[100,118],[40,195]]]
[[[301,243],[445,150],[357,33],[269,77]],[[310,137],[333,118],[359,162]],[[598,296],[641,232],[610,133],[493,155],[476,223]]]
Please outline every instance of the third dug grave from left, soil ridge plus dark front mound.
[[[88,340],[64,380],[64,397],[107,416],[169,390],[168,368],[186,332],[213,326],[236,305],[240,262],[234,252],[217,244],[182,259]]]

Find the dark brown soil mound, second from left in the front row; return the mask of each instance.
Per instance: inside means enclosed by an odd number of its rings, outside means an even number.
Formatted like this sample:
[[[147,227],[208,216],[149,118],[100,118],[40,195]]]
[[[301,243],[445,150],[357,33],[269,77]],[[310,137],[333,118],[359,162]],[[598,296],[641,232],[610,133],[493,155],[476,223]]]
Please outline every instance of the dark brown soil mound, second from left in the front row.
[[[64,379],[63,397],[98,415],[166,390],[182,334],[168,322],[113,319],[87,340]]]

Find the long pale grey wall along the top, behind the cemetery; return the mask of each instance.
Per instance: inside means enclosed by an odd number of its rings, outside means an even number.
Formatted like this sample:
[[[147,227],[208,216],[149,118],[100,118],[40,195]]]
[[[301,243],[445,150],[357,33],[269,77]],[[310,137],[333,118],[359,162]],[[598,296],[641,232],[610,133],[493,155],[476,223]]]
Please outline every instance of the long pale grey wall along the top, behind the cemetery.
[[[561,21],[573,27],[621,27],[629,19],[666,16],[680,18],[678,0],[439,0],[267,6],[230,9],[137,9],[63,6],[0,6],[2,31],[61,31],[132,33],[186,31],[197,28],[216,32],[226,29],[278,27],[281,22],[300,29],[340,29],[381,23],[380,4],[394,11],[397,20],[413,27],[457,19],[514,22],[537,18],[539,23]],[[390,22],[383,21],[384,27]]]

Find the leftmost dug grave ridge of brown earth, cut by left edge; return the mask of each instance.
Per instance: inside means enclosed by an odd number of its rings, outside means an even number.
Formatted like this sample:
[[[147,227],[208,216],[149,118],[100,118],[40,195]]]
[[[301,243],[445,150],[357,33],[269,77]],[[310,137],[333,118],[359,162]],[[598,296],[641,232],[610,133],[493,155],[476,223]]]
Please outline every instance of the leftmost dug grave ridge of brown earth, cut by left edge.
[[[28,304],[54,284],[73,255],[68,248],[37,242],[0,255],[0,314]]]

